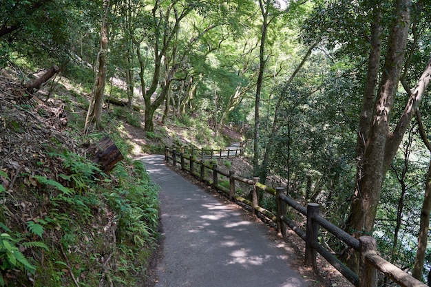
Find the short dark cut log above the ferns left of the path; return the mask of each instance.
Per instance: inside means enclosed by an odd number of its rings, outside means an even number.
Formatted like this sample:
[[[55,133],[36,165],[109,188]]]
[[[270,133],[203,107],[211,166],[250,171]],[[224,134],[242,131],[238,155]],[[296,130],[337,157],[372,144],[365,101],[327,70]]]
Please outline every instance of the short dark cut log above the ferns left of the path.
[[[109,136],[92,145],[90,150],[96,151],[93,162],[100,165],[103,173],[109,173],[117,162],[124,159],[123,154]]]

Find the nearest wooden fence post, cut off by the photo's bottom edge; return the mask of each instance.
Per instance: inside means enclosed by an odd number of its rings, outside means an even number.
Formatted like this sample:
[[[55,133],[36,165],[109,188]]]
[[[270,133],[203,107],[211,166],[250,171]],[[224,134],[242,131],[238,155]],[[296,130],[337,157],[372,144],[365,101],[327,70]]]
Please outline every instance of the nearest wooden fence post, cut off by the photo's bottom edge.
[[[376,240],[371,236],[359,237],[359,286],[377,287],[377,270],[366,262],[368,253],[377,250]]]

